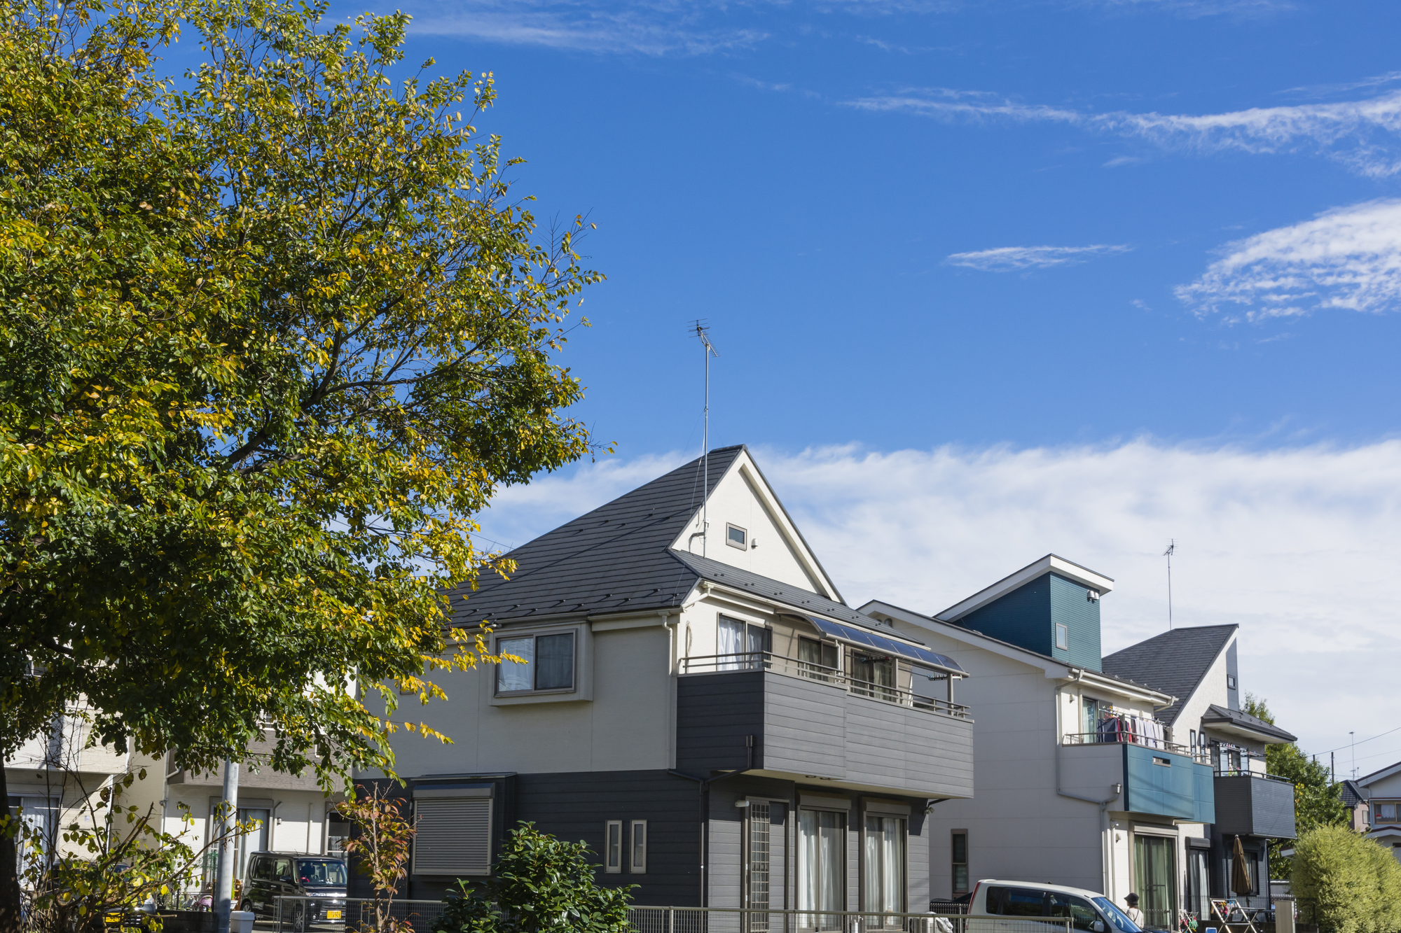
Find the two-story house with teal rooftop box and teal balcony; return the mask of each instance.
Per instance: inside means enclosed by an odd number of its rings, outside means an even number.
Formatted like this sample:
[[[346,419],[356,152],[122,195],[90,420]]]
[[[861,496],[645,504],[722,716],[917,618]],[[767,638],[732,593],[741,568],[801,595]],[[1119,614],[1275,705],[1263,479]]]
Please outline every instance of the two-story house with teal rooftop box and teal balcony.
[[[971,799],[929,818],[930,888],[979,878],[1138,892],[1171,927],[1185,853],[1215,820],[1212,768],[1170,735],[1177,698],[1101,664],[1100,607],[1114,581],[1047,555],[934,615],[871,601],[862,612],[951,657],[978,710]]]

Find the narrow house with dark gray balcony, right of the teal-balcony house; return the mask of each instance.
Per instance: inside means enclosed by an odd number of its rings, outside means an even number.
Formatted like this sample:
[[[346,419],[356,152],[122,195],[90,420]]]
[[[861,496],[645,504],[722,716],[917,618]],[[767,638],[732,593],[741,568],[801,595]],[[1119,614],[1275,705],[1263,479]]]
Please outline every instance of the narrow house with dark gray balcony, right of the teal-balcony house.
[[[1241,709],[1236,625],[1173,629],[1115,651],[1104,670],[1171,693],[1159,710],[1174,742],[1213,770],[1216,818],[1199,838],[1188,839],[1182,904],[1209,919],[1208,898],[1236,898],[1251,906],[1269,904],[1271,839],[1295,838],[1295,787],[1267,773],[1265,747],[1295,737]],[[1248,895],[1233,891],[1231,859],[1240,839],[1251,880]]]

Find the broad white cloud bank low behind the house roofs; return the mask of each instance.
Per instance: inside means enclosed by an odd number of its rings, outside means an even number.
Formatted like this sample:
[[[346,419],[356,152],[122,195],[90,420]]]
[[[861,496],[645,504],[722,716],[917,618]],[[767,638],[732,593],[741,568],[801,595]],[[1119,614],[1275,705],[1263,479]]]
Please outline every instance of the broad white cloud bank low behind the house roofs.
[[[1101,604],[1111,653],[1167,628],[1161,552],[1175,538],[1177,623],[1238,623],[1244,688],[1306,749],[1401,723],[1391,675],[1401,667],[1401,441],[755,455],[853,605],[878,597],[936,612],[1055,552],[1115,579]],[[541,534],[689,457],[546,476],[510,490],[486,531]],[[1401,759],[1384,758],[1401,747],[1387,741],[1372,744],[1383,755],[1372,766]]]

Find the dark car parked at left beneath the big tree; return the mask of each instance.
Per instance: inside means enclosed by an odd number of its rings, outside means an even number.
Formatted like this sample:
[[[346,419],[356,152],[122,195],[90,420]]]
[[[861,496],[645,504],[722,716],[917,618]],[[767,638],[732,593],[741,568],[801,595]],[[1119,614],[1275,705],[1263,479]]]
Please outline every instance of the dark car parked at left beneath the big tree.
[[[254,915],[277,916],[300,933],[308,923],[345,923],[346,863],[333,856],[297,852],[254,852],[248,856],[240,906]]]

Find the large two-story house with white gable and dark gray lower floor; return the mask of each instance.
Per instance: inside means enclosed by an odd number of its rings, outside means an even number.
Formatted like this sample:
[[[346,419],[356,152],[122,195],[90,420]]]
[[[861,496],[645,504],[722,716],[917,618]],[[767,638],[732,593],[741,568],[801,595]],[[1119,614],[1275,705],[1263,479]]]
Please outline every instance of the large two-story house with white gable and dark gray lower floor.
[[[489,876],[528,821],[587,842],[636,904],[807,929],[927,909],[929,806],[972,793],[967,671],[843,602],[744,447],[509,556],[450,605],[525,663],[441,677],[425,716],[453,744],[394,744],[419,818],[406,897]]]

